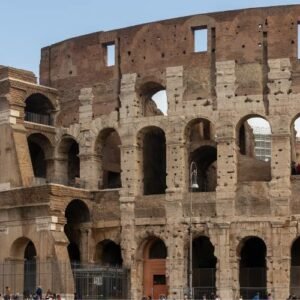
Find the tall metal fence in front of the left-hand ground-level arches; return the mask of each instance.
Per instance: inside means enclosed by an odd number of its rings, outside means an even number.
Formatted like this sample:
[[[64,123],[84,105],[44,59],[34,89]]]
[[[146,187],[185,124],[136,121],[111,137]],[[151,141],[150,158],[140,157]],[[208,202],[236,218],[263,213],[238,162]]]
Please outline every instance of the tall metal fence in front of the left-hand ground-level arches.
[[[76,298],[128,299],[129,270],[97,264],[72,264],[61,261],[10,260],[0,263],[0,294],[10,288],[10,299],[33,299],[42,286],[43,298],[49,289],[53,298],[70,294]]]

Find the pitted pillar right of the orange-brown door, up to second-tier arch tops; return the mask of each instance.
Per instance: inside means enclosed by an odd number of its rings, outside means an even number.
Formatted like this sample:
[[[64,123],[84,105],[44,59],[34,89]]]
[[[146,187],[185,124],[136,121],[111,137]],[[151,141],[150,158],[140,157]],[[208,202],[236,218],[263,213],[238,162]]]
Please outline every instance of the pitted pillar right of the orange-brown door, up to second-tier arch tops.
[[[174,76],[176,77],[177,75]],[[169,78],[169,80],[171,79]],[[172,235],[168,239],[168,258],[166,267],[170,299],[178,300],[183,299],[183,291],[187,287],[187,274],[185,274],[184,265],[185,230],[182,227],[182,199],[184,198],[184,189],[186,186],[187,168],[185,160],[185,144],[182,138],[184,125],[185,123],[178,121],[178,119],[173,120],[170,122],[169,129],[166,133],[166,231],[172,232]]]

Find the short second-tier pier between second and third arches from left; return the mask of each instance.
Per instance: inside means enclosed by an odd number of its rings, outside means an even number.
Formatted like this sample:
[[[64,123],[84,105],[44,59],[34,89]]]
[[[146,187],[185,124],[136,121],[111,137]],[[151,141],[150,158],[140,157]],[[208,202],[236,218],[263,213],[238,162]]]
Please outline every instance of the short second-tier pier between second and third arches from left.
[[[80,179],[86,189],[101,188],[101,158],[94,153],[80,154]]]

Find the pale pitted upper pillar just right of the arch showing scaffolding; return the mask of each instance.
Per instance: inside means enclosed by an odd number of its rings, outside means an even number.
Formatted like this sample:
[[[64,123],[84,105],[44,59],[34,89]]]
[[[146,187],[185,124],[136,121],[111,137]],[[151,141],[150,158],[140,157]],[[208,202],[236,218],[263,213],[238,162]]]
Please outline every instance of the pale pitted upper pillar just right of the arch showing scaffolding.
[[[291,142],[289,108],[291,93],[291,63],[288,58],[268,60],[269,107],[272,120],[272,159],[270,198],[272,214],[289,214]]]

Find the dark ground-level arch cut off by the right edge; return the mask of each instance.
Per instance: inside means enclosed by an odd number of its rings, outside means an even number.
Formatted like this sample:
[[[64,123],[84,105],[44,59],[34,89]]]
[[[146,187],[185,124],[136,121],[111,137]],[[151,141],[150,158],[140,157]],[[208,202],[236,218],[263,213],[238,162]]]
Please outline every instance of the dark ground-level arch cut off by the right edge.
[[[290,293],[300,295],[300,238],[297,238],[291,249]]]

